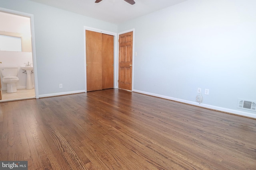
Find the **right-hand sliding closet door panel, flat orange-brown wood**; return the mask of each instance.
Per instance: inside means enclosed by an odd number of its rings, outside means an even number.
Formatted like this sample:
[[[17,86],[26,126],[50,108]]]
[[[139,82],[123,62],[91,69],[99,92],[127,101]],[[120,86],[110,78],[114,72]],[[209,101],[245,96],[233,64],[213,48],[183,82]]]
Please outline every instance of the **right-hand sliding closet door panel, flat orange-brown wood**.
[[[114,36],[102,34],[102,89],[114,88]]]

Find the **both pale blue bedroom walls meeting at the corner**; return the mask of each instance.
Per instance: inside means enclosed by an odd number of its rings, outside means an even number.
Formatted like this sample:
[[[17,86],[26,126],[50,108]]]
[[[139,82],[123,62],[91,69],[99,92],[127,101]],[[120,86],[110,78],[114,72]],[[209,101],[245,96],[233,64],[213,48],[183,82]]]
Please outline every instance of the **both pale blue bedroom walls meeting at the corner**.
[[[188,0],[114,25],[29,0],[0,7],[34,15],[39,96],[85,90],[84,26],[135,29],[134,91],[256,117],[236,108],[256,100],[256,1]],[[63,88],[59,88],[59,84]]]

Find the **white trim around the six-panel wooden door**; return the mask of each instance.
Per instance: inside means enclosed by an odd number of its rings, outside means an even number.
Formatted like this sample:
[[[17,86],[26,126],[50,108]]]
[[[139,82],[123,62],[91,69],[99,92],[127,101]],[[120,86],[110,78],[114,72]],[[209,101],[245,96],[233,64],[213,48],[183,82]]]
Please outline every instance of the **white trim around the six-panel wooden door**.
[[[117,38],[119,38],[119,35],[120,34],[124,34],[124,33],[128,33],[128,32],[132,32],[132,92],[133,92],[133,80],[134,80],[134,33],[135,33],[135,29],[129,29],[129,30],[126,30],[126,31],[122,31],[120,33],[117,34]],[[119,41],[119,39],[118,39]],[[117,41],[117,42],[118,42]],[[117,54],[119,54],[119,43],[117,44]],[[119,63],[119,56],[117,56],[117,80],[118,80],[118,75],[119,75],[119,72],[118,72],[118,65]],[[116,84],[114,84],[114,86],[116,86],[118,88],[118,81],[116,81]]]

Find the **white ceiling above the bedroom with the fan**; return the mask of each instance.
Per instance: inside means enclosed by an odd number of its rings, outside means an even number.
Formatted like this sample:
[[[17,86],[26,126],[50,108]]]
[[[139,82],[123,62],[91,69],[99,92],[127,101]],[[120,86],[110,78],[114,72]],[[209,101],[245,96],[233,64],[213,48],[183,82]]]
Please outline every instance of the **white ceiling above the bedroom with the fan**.
[[[67,10],[110,23],[122,23],[151,12],[173,6],[186,0],[134,0],[130,5],[124,0],[30,0]]]

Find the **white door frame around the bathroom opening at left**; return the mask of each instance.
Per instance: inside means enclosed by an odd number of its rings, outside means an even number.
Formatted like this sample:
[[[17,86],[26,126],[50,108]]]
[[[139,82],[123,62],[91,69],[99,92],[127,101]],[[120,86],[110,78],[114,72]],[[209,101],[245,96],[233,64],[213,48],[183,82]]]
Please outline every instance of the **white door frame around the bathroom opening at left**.
[[[24,17],[30,18],[35,94],[36,94],[36,98],[38,99],[39,95],[38,95],[38,78],[37,78],[37,65],[36,65],[36,41],[35,41],[35,29],[34,29],[34,15],[24,13],[24,12],[9,10],[9,9],[6,9],[6,8],[0,8],[0,12],[6,12],[6,13],[9,13],[9,14],[14,14],[14,15],[24,16]]]

